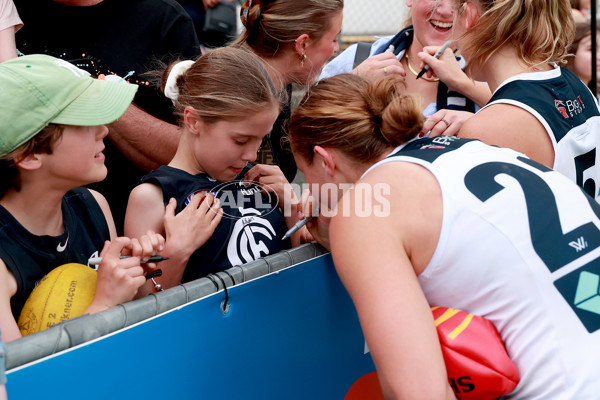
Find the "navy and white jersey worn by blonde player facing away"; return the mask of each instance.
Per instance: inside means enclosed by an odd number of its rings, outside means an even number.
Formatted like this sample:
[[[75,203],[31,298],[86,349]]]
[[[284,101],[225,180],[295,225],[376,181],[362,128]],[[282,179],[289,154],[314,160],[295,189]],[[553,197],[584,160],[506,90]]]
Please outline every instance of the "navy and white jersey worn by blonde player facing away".
[[[598,196],[600,111],[596,98],[575,74],[556,67],[514,76],[496,89],[484,108],[499,103],[520,107],[537,118],[552,140],[552,168],[590,196]]]

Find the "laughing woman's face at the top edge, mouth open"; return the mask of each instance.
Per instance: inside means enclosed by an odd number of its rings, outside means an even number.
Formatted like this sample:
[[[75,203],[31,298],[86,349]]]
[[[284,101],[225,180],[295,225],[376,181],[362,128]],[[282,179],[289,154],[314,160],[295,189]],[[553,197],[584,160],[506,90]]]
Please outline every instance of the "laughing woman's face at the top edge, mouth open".
[[[412,8],[416,44],[441,46],[452,37],[454,0],[406,0]]]

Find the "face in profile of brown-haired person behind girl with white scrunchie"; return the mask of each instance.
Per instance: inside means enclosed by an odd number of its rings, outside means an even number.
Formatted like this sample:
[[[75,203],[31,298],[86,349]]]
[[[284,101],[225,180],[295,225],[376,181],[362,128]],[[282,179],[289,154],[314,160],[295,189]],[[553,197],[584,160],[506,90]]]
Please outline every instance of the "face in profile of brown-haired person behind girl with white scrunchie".
[[[341,30],[342,10],[332,15],[329,29],[319,40],[309,39],[306,48],[306,60],[302,69],[304,76],[299,79],[301,84],[312,83],[321,73],[321,69],[323,69],[327,60],[340,49],[338,36]]]

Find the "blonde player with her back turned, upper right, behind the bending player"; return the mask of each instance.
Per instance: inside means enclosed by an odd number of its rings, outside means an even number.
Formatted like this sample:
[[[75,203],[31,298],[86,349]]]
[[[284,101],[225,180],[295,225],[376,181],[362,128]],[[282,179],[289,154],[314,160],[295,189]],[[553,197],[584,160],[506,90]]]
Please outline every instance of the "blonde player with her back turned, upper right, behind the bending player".
[[[492,90],[458,136],[509,147],[600,189],[600,110],[566,64],[575,25],[568,0],[454,0],[467,74]]]

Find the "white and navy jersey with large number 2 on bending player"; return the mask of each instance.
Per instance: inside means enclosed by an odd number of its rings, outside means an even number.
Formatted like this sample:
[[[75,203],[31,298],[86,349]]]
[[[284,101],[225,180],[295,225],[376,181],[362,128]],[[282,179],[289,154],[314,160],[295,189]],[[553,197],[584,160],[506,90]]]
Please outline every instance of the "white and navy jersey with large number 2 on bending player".
[[[600,206],[562,174],[477,140],[416,140],[374,167],[397,161],[441,187],[425,296],[496,326],[521,374],[505,398],[599,399]]]

